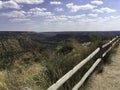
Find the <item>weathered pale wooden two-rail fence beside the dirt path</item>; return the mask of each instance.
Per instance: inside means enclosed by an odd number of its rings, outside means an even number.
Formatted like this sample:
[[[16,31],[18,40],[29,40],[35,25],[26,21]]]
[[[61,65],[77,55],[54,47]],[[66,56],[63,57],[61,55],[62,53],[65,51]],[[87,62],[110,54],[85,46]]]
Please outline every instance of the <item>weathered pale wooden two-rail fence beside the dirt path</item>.
[[[90,69],[83,75],[81,80],[72,88],[72,90],[78,90],[82,86],[82,84],[85,82],[85,80],[89,77],[89,75],[93,72],[93,70],[98,66],[102,58],[106,56],[106,54],[116,45],[116,43],[119,40],[120,40],[120,37],[116,36],[108,43],[98,47],[88,57],[82,60],[73,69],[68,71],[63,77],[61,77],[56,83],[51,85],[47,90],[59,89],[70,77],[72,77],[78,70],[80,70],[88,61],[90,61],[94,56],[99,54],[98,59],[94,62],[94,64],[90,67]]]

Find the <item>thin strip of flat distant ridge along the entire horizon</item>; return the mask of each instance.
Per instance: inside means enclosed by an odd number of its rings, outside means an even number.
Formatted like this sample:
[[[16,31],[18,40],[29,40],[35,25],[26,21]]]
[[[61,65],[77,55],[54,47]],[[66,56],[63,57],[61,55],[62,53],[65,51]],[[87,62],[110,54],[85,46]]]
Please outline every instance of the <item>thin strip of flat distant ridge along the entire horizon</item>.
[[[34,31],[0,31],[0,34],[22,34],[22,33],[36,33],[36,34],[44,34],[44,35],[56,35],[56,34],[109,34],[116,35],[120,34],[120,31],[59,31],[59,32],[34,32]]]

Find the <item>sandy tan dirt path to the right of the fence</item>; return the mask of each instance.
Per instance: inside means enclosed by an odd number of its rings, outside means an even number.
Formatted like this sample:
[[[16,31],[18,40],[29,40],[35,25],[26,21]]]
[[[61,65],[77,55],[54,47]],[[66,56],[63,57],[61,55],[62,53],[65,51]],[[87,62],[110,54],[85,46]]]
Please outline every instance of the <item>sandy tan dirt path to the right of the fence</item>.
[[[111,55],[111,61],[101,74],[94,73],[90,77],[86,90],[120,90],[120,45]]]

